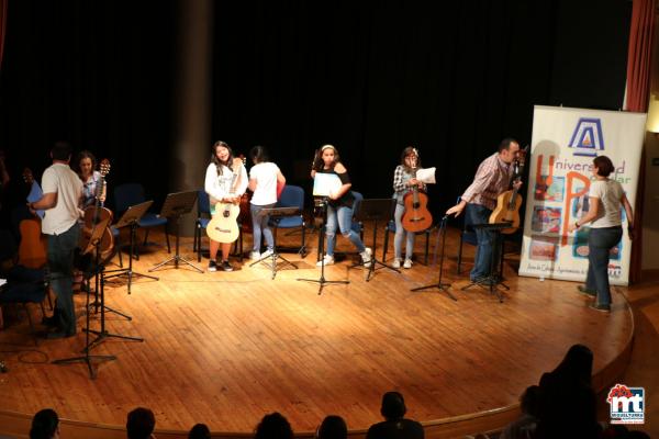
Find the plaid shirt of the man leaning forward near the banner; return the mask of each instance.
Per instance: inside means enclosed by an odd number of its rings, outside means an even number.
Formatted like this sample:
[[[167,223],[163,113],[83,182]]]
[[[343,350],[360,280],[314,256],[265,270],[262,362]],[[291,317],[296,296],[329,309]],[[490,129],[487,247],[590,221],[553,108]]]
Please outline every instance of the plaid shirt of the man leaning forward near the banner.
[[[468,203],[481,204],[490,210],[496,207],[496,198],[509,190],[513,167],[499,158],[499,153],[494,153],[484,159],[478,170],[473,182],[461,199]]]

